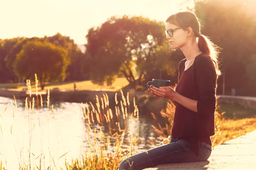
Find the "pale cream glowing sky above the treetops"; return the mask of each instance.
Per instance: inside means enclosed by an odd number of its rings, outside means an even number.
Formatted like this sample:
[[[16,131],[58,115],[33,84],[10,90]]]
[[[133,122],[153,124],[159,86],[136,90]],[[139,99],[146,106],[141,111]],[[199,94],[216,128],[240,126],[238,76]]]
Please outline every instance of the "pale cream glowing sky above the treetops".
[[[86,43],[87,30],[111,16],[143,16],[164,21],[193,0],[0,0],[0,39],[44,37],[57,32],[77,44]]]

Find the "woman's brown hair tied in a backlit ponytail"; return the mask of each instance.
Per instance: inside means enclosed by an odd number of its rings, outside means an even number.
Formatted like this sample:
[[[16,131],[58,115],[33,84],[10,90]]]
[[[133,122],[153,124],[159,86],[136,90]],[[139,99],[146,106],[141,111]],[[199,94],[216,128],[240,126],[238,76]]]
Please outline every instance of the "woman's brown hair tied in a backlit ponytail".
[[[204,54],[208,54],[211,57],[211,60],[215,65],[215,71],[217,76],[221,75],[218,62],[219,47],[215,45],[211,40],[209,40],[207,36],[201,34],[201,23],[194,12],[183,11],[172,14],[167,18],[166,22],[180,26],[184,30],[186,30],[188,27],[191,27],[194,36],[198,37],[197,43],[199,50],[202,51]]]

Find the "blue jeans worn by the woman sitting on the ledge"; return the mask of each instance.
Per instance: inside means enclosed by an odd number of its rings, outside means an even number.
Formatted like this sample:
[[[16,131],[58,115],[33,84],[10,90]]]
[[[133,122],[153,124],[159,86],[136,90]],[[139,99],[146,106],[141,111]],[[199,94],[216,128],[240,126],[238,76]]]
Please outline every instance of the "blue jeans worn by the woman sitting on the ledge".
[[[212,153],[212,147],[204,142],[199,142],[199,144],[200,151],[197,157],[189,149],[189,142],[183,139],[172,139],[168,144],[130,156],[128,159],[130,164],[133,161],[131,167],[127,160],[124,159],[119,164],[119,170],[143,170],[160,164],[206,161]]]

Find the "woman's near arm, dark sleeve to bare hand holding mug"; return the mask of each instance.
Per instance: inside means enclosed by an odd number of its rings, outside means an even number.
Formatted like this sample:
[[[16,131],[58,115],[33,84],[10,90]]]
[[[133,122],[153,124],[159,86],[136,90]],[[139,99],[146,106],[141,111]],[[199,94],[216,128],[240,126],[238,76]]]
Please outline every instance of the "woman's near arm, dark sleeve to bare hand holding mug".
[[[201,116],[213,115],[216,104],[216,73],[209,59],[202,57],[198,59],[196,79],[199,89],[199,99],[193,100],[178,94],[171,87],[151,88],[158,97],[173,100]]]

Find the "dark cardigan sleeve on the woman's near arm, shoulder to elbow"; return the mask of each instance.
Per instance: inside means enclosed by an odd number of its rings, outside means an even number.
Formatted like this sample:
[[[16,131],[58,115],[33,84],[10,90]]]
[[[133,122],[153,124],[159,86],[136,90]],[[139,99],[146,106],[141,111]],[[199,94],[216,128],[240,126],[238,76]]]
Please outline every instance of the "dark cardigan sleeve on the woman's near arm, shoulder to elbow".
[[[212,116],[216,109],[217,74],[208,56],[198,58],[196,80],[199,89],[197,110],[199,116]]]

